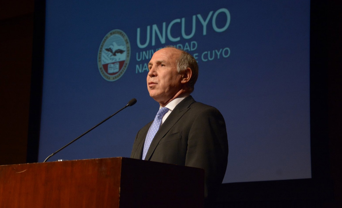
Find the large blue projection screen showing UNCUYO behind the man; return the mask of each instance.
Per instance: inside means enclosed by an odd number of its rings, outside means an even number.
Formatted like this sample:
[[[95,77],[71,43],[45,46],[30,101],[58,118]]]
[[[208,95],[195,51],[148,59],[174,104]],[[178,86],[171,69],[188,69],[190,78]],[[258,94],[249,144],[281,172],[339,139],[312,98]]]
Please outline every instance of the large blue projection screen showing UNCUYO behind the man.
[[[147,63],[175,45],[228,134],[224,183],[311,178],[310,1],[46,1],[39,162],[129,157],[154,119]]]

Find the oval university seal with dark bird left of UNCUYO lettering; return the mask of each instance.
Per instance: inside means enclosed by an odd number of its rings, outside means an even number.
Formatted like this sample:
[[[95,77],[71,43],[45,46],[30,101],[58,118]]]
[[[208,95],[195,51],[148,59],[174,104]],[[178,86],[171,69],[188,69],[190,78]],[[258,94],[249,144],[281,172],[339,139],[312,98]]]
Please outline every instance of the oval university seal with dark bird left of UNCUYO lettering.
[[[127,35],[121,30],[112,30],[103,38],[97,54],[97,66],[107,81],[118,80],[125,73],[131,46]]]

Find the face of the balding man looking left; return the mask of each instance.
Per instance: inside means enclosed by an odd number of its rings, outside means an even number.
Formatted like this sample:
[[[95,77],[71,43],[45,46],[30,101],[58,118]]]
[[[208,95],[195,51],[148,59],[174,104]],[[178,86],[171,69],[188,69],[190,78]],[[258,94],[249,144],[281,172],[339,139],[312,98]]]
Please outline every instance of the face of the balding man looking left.
[[[176,60],[181,51],[163,48],[156,51],[148,63],[147,89],[150,96],[164,106],[182,92],[182,75],[177,72]]]

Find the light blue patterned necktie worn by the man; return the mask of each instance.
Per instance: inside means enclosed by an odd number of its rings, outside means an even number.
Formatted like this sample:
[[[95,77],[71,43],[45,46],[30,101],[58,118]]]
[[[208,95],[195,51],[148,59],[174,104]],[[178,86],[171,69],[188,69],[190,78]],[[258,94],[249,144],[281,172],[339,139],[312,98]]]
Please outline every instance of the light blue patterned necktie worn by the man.
[[[149,148],[149,146],[151,145],[151,142],[154,138],[154,136],[156,135],[159,127],[160,127],[160,123],[161,123],[161,119],[163,118],[163,116],[169,111],[169,108],[167,107],[162,107],[159,109],[156,118],[154,118],[154,121],[152,123],[152,125],[150,126],[147,135],[146,135],[146,139],[145,139],[145,144],[144,144],[144,150],[143,150],[143,157],[142,159],[145,160],[146,154],[147,154],[147,150]]]

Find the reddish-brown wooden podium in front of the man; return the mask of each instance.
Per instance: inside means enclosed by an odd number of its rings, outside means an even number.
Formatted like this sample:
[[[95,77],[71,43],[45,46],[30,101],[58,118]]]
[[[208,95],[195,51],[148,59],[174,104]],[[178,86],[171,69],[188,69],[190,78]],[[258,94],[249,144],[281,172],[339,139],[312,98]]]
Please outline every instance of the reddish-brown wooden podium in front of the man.
[[[130,158],[0,166],[0,207],[203,207],[204,170]]]

